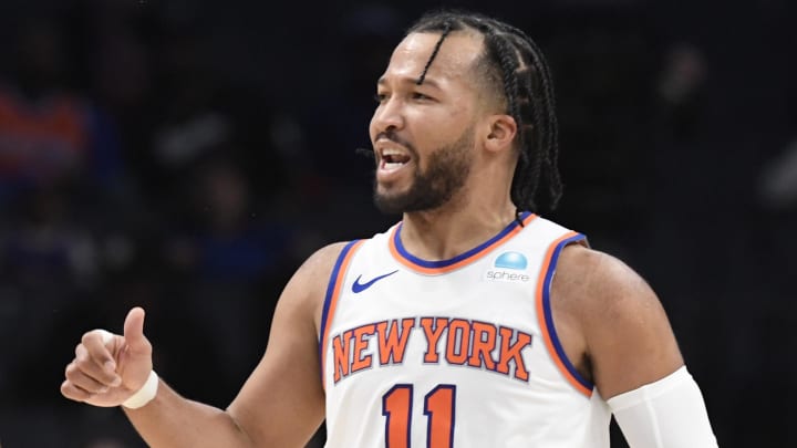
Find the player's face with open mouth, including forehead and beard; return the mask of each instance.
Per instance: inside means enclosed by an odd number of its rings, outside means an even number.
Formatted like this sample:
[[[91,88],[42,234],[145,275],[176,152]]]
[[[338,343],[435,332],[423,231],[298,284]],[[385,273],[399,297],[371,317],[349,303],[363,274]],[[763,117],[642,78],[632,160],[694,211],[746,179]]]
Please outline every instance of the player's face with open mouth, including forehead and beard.
[[[482,42],[468,34],[448,35],[417,85],[438,40],[435,33],[406,37],[377,83],[380,104],[370,126],[374,200],[387,213],[444,205],[470,170],[477,113],[470,69]]]

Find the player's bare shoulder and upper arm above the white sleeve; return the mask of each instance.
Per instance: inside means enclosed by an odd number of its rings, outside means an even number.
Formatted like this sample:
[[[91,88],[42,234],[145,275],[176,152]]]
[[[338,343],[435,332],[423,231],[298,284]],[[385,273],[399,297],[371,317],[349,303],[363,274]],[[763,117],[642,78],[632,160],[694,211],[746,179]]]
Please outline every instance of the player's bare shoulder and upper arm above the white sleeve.
[[[551,288],[603,397],[652,383],[683,364],[655,292],[618,258],[570,244]]]

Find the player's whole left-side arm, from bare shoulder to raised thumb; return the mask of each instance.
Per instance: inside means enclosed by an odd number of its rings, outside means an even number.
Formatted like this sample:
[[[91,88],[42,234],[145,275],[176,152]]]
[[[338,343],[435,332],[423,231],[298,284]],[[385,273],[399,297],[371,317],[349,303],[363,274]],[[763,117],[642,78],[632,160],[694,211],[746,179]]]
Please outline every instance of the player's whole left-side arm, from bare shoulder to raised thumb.
[[[218,409],[179,396],[161,381],[151,402],[124,407],[153,447],[303,447],[323,419],[318,316],[341,244],[319,250],[286,285],[266,354],[238,396]],[[124,335],[86,333],[66,367],[62,394],[95,406],[118,406],[147,381],[152,346],[144,312],[134,309]]]

